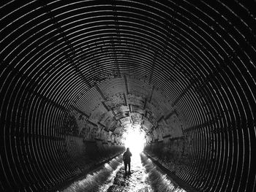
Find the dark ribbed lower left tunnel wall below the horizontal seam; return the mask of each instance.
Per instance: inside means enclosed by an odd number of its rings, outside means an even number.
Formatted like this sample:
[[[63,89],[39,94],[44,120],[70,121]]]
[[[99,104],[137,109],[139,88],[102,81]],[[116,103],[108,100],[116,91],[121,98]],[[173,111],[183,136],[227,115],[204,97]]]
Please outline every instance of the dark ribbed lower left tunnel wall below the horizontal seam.
[[[7,123],[2,127],[14,129]],[[48,191],[124,151],[111,141],[86,141],[68,134],[53,137],[15,130],[1,133],[1,141],[2,191]]]

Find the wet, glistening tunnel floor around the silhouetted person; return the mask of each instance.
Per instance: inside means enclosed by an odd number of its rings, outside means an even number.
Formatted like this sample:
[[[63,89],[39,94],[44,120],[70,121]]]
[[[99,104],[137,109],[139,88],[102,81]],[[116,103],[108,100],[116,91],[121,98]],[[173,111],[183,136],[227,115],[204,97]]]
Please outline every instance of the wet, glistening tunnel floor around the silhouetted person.
[[[132,156],[131,174],[125,174],[122,155],[119,155],[86,177],[72,183],[64,191],[185,192],[184,189],[175,186],[143,153]]]

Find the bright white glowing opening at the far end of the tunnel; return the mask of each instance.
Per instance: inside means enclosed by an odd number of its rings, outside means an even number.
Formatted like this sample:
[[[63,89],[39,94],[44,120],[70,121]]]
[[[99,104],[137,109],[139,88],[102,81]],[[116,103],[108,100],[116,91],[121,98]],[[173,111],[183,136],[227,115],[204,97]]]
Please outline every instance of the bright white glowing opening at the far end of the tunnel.
[[[140,128],[129,128],[127,133],[124,134],[124,146],[126,148],[129,147],[132,154],[137,155],[141,153],[145,143],[145,133],[140,131]]]

